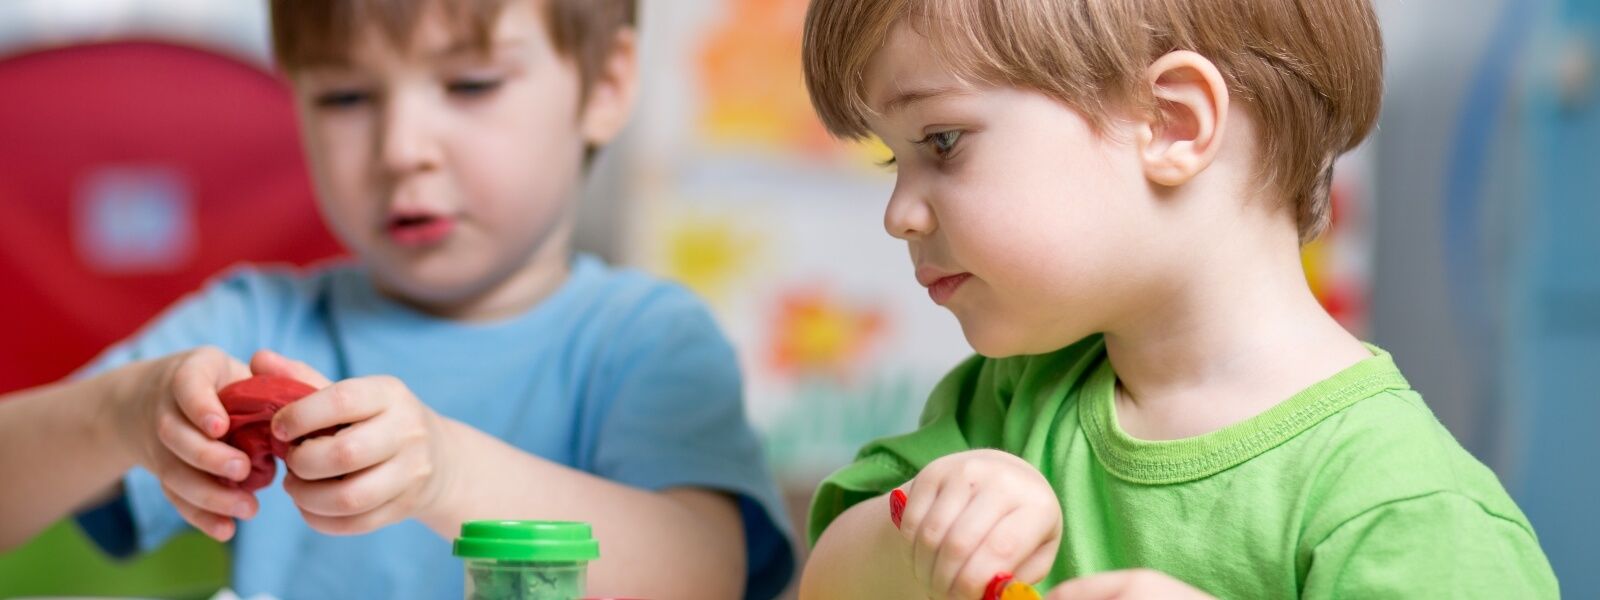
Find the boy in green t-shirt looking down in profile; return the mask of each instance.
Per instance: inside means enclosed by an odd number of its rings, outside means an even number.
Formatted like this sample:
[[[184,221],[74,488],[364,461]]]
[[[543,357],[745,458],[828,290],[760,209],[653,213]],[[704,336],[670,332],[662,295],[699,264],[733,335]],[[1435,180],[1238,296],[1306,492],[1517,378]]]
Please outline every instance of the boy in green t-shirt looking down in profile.
[[[885,226],[979,357],[822,483],[802,598],[1558,594],[1306,283],[1378,118],[1366,0],[813,0],[803,54],[827,128],[894,152]]]

